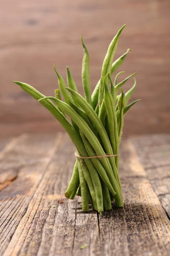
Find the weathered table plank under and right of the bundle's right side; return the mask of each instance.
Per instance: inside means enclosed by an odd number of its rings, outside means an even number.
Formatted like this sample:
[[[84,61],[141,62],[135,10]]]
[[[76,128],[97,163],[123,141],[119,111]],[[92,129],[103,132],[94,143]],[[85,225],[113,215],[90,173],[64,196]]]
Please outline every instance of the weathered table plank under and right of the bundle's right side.
[[[97,251],[105,247],[106,255],[113,251],[118,255],[168,255],[170,222],[133,145],[127,141],[122,148],[120,177],[125,207],[107,212],[105,218],[99,216]]]

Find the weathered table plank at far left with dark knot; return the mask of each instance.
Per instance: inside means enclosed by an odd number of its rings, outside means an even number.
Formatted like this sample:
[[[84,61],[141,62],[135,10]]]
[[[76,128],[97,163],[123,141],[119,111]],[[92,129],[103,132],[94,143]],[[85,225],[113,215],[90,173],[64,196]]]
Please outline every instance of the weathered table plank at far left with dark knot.
[[[6,250],[45,169],[59,147],[60,135],[22,135],[1,153],[1,167],[17,168],[17,177],[0,192],[0,254]],[[6,162],[5,162],[6,159]],[[22,164],[20,162],[22,161]],[[23,164],[24,162],[24,164]],[[17,164],[18,163],[18,164]],[[7,168],[7,170],[8,170]]]

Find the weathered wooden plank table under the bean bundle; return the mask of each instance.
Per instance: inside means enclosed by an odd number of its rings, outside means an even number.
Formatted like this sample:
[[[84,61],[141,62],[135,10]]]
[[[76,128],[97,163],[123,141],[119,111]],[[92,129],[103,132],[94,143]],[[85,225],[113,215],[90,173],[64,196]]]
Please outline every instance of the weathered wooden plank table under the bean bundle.
[[[103,216],[64,197],[75,160],[66,134],[23,134],[0,148],[1,256],[169,255],[170,134],[123,138],[125,207]]]

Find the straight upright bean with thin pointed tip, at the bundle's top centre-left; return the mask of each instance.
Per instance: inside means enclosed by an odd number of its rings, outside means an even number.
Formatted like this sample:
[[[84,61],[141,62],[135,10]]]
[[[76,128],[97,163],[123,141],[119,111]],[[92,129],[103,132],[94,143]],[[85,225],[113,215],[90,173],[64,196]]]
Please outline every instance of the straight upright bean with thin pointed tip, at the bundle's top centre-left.
[[[89,71],[89,54],[88,54],[88,50],[85,47],[85,44],[82,40],[82,35],[81,35],[81,41],[82,41],[82,47],[84,49],[84,57],[82,60],[82,85],[83,85],[83,89],[84,89],[84,93],[85,93],[85,99],[92,106],[90,71]]]

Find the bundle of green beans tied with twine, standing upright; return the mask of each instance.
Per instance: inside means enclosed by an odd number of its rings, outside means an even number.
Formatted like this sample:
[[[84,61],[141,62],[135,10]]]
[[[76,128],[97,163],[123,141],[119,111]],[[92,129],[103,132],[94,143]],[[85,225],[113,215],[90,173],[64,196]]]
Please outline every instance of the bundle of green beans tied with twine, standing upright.
[[[138,101],[128,105],[129,99],[136,87],[124,92],[122,85],[136,73],[118,83],[118,73],[111,80],[113,73],[120,67],[130,49],[113,62],[119,36],[125,25],[115,35],[108,47],[103,61],[99,82],[91,95],[89,72],[89,54],[82,40],[84,57],[82,61],[82,85],[85,98],[77,90],[77,86],[67,67],[67,84],[57,74],[59,89],[55,90],[55,97],[46,97],[28,84],[14,81],[34,99],[40,102],[65,128],[72,142],[76,146],[76,162],[73,174],[65,191],[65,196],[74,199],[75,195],[82,198],[82,210],[92,209],[99,213],[111,209],[111,201],[116,207],[123,207],[122,189],[119,180],[119,144],[121,141],[123,121],[129,109]],[[119,93],[121,89],[121,93]],[[61,94],[63,101],[61,99]],[[53,103],[53,102],[54,103]],[[66,116],[71,118],[68,121]],[[72,123],[72,124],[71,124]]]

